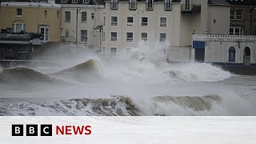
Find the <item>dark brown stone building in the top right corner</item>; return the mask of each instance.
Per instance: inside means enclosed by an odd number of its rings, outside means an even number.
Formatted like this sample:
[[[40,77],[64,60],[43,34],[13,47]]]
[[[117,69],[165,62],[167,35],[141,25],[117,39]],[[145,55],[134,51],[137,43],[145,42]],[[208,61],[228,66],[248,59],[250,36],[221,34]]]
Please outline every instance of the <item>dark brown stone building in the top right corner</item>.
[[[230,34],[256,34],[256,1],[226,0],[230,3]]]

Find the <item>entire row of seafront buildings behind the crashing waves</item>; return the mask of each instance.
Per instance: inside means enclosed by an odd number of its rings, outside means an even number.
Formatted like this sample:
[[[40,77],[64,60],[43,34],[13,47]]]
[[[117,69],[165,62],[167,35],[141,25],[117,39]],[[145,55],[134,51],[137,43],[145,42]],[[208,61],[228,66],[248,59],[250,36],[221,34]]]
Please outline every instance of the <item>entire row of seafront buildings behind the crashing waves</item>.
[[[104,57],[122,57],[130,49],[143,44],[164,49],[169,62],[200,61],[249,65],[256,63],[254,59],[256,40],[254,36],[244,37],[242,34],[254,34],[254,3],[250,2],[250,0],[2,2],[0,29],[12,33],[19,33],[22,30],[39,33],[42,34],[42,42],[58,42],[90,49],[98,51]],[[248,8],[250,8],[250,18],[247,16]],[[229,55],[235,58],[229,58]],[[245,55],[250,55],[250,58]]]

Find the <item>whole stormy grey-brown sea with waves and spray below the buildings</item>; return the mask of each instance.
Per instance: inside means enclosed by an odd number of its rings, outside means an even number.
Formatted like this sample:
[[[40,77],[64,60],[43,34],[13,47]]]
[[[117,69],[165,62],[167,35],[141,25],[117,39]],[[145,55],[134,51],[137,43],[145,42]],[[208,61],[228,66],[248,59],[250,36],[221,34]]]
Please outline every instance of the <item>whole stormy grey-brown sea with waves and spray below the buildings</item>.
[[[162,50],[97,54],[53,66],[0,68],[0,115],[256,115],[256,77],[207,63],[166,63]]]

